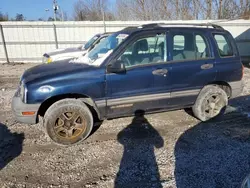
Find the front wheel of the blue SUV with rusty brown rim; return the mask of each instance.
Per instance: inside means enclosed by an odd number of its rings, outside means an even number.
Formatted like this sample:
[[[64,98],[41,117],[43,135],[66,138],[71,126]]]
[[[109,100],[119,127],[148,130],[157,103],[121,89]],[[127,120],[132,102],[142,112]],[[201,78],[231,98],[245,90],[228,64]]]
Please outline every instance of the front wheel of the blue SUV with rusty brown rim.
[[[89,108],[77,99],[55,102],[44,115],[48,136],[57,144],[72,145],[86,139],[93,128]]]

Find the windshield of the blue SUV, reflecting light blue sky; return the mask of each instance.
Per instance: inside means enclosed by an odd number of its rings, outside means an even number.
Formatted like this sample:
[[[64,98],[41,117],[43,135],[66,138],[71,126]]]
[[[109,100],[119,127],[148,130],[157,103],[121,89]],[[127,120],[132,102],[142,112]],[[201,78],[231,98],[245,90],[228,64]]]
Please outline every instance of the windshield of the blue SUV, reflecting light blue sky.
[[[113,51],[128,34],[114,33],[101,41],[93,50],[88,54],[88,58],[93,62],[96,59],[103,57],[108,52]]]

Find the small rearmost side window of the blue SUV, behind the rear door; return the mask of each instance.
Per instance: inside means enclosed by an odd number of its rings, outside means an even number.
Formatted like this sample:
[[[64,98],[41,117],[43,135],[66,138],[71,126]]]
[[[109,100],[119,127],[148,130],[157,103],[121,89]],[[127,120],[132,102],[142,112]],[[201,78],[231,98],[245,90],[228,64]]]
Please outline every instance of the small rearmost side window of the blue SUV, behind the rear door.
[[[219,54],[221,57],[230,57],[234,55],[232,46],[225,35],[214,34],[214,39],[217,43]]]

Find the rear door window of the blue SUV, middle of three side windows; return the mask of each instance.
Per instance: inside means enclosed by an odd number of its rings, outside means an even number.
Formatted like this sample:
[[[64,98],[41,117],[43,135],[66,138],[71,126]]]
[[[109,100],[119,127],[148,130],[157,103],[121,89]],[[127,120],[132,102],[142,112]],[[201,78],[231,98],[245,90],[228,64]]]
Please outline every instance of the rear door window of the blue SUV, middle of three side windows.
[[[209,58],[209,46],[204,36],[191,32],[173,33],[173,60]]]

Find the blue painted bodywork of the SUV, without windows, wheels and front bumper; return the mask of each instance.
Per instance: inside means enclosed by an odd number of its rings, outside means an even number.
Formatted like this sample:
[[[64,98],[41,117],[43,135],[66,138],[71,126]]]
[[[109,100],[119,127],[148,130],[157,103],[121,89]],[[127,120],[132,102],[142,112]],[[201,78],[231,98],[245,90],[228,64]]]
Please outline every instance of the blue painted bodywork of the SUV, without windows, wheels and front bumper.
[[[27,104],[42,104],[47,99],[66,94],[77,94],[93,100],[101,114],[101,119],[132,115],[136,110],[161,111],[190,107],[199,91],[212,82],[235,82],[242,78],[242,65],[237,47],[231,35],[235,55],[221,58],[213,40],[213,32],[218,29],[190,28],[190,32],[201,33],[207,38],[211,58],[173,61],[173,51],[169,50],[167,62],[133,67],[125,73],[107,73],[106,66],[115,59],[130,40],[143,32],[165,32],[167,48],[172,48],[171,32],[181,32],[183,28],[154,28],[130,31],[113,53],[99,66],[91,66],[68,61],[43,64],[33,67],[23,74],[21,81],[27,87]],[[210,64],[211,69],[201,69]],[[167,69],[166,76],[152,74],[157,69]],[[39,90],[41,86],[51,86],[49,93]]]

